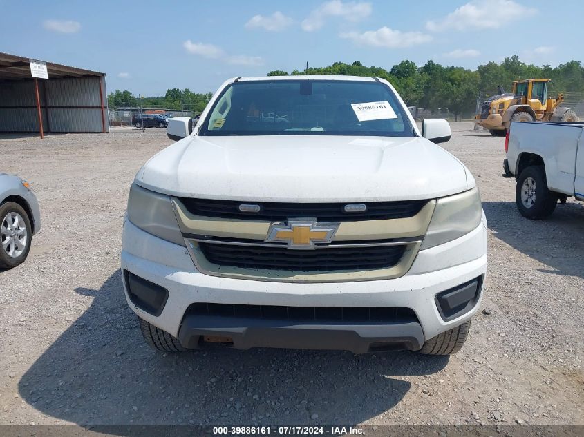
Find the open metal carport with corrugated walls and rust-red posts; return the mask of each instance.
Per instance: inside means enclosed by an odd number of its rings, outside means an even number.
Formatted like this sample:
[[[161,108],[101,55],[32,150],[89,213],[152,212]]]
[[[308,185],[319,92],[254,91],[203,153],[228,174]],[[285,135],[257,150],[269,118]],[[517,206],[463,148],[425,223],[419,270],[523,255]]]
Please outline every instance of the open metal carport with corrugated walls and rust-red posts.
[[[105,73],[47,62],[35,79],[28,57],[0,52],[0,133],[107,133]]]

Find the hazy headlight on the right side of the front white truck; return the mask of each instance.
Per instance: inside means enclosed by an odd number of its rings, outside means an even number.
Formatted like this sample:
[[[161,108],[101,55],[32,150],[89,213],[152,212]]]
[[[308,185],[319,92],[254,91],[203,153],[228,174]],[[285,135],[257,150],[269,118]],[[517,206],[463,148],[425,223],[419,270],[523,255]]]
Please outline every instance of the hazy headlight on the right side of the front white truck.
[[[466,235],[480,224],[481,217],[478,188],[438,199],[420,250]]]

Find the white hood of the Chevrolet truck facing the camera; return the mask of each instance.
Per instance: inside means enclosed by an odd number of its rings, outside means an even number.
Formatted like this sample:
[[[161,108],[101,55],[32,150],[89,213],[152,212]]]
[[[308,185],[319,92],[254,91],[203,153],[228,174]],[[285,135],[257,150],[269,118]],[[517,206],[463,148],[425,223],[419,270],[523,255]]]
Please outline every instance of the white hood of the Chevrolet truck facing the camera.
[[[442,197],[472,188],[467,169],[421,137],[187,137],[136,175],[180,197],[264,202],[375,202]]]

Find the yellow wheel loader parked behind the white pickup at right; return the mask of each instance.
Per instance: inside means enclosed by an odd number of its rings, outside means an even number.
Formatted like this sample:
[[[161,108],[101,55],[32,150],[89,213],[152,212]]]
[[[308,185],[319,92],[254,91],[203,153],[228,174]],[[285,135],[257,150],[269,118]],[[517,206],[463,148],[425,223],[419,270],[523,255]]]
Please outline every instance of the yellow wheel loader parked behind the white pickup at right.
[[[493,95],[482,104],[475,123],[488,129],[491,135],[505,136],[511,122],[579,122],[578,115],[569,108],[561,108],[563,95],[547,97],[547,84],[551,79],[526,79],[514,81],[511,93],[498,86]]]

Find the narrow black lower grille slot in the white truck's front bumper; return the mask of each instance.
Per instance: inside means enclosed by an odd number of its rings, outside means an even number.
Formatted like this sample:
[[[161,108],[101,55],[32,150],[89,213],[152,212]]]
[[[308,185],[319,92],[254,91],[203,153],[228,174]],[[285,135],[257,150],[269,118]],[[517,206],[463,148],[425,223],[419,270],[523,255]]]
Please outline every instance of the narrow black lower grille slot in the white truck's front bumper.
[[[417,320],[413,310],[404,307],[280,307],[276,305],[191,304],[187,315],[218,315],[223,317],[298,322],[397,322]]]

